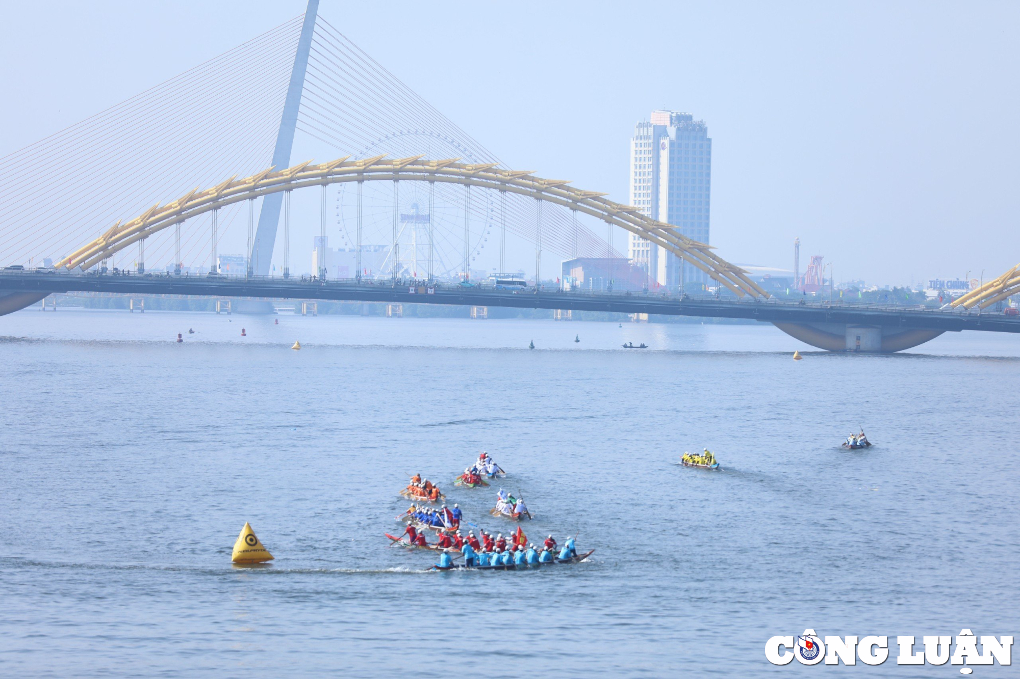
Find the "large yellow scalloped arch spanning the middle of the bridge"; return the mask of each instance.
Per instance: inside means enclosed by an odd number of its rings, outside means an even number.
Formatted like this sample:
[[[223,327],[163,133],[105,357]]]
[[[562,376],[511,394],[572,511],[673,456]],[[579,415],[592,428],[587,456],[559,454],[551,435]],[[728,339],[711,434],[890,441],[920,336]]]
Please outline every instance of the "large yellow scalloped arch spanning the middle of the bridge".
[[[465,164],[457,162],[458,158],[349,158],[319,164],[306,161],[276,171],[269,167],[242,179],[233,176],[205,190],[196,188],[170,203],[153,205],[135,219],[117,221],[101,237],[58,261],[56,267],[89,269],[168,226],[261,196],[352,181],[435,181],[517,194],[576,210],[665,248],[738,297],[769,297],[748,277],[747,271],[715,255],[711,246],[686,238],[672,224],[647,217],[635,207],[606,200],[606,194],[570,187],[565,179],[546,179],[528,170],[500,169],[495,163]]]

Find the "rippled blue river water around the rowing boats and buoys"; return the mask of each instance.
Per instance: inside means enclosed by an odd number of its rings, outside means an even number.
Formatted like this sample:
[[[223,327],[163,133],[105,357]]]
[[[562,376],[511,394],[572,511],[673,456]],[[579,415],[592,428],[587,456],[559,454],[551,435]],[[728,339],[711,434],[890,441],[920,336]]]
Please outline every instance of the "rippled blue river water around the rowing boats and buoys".
[[[278,318],[0,318],[0,675],[820,676],[765,641],[1020,632],[1017,337]],[[858,426],[876,446],[840,450]],[[724,471],[676,464],[705,447]],[[592,560],[428,573],[388,546],[415,472],[511,528],[496,487],[452,484],[479,450],[529,538]],[[270,566],[231,566],[245,521]],[[839,669],[959,676],[890,655]]]

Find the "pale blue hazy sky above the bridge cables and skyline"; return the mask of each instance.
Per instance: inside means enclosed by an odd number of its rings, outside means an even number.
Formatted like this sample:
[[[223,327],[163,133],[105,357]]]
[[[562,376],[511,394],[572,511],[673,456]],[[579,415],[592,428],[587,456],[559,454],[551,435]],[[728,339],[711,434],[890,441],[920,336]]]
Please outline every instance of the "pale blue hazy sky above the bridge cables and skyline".
[[[304,2],[0,8],[5,155]],[[511,166],[621,202],[633,124],[653,108],[704,119],[712,243],[730,261],[789,268],[795,237],[802,267],[823,254],[840,280],[1020,261],[1020,3],[322,0],[320,13]]]

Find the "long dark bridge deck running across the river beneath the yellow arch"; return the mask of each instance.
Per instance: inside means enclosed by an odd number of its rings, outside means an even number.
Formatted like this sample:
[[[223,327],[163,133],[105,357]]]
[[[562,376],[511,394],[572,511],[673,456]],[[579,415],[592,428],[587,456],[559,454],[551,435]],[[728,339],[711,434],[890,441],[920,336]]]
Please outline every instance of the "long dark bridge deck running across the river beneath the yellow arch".
[[[301,277],[219,275],[99,274],[53,270],[0,271],[3,293],[122,293],[134,295],[192,295],[203,297],[275,298],[337,302],[399,302],[518,309],[570,309],[667,316],[745,318],[763,322],[849,323],[932,330],[987,330],[1020,332],[1020,317],[999,312],[929,309],[834,301],[750,300],[733,297],[684,296],[626,292],[496,290],[487,284],[463,286],[438,283],[428,289],[392,280],[316,280]],[[422,292],[418,292],[422,291]]]

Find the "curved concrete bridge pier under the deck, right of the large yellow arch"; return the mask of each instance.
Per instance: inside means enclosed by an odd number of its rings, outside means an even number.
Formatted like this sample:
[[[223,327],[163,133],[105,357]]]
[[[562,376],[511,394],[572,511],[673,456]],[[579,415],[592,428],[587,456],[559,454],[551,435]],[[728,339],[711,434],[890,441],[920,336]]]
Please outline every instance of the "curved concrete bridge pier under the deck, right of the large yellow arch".
[[[862,354],[901,352],[924,344],[945,332],[945,330],[843,323],[772,324],[786,334],[818,349]]]

